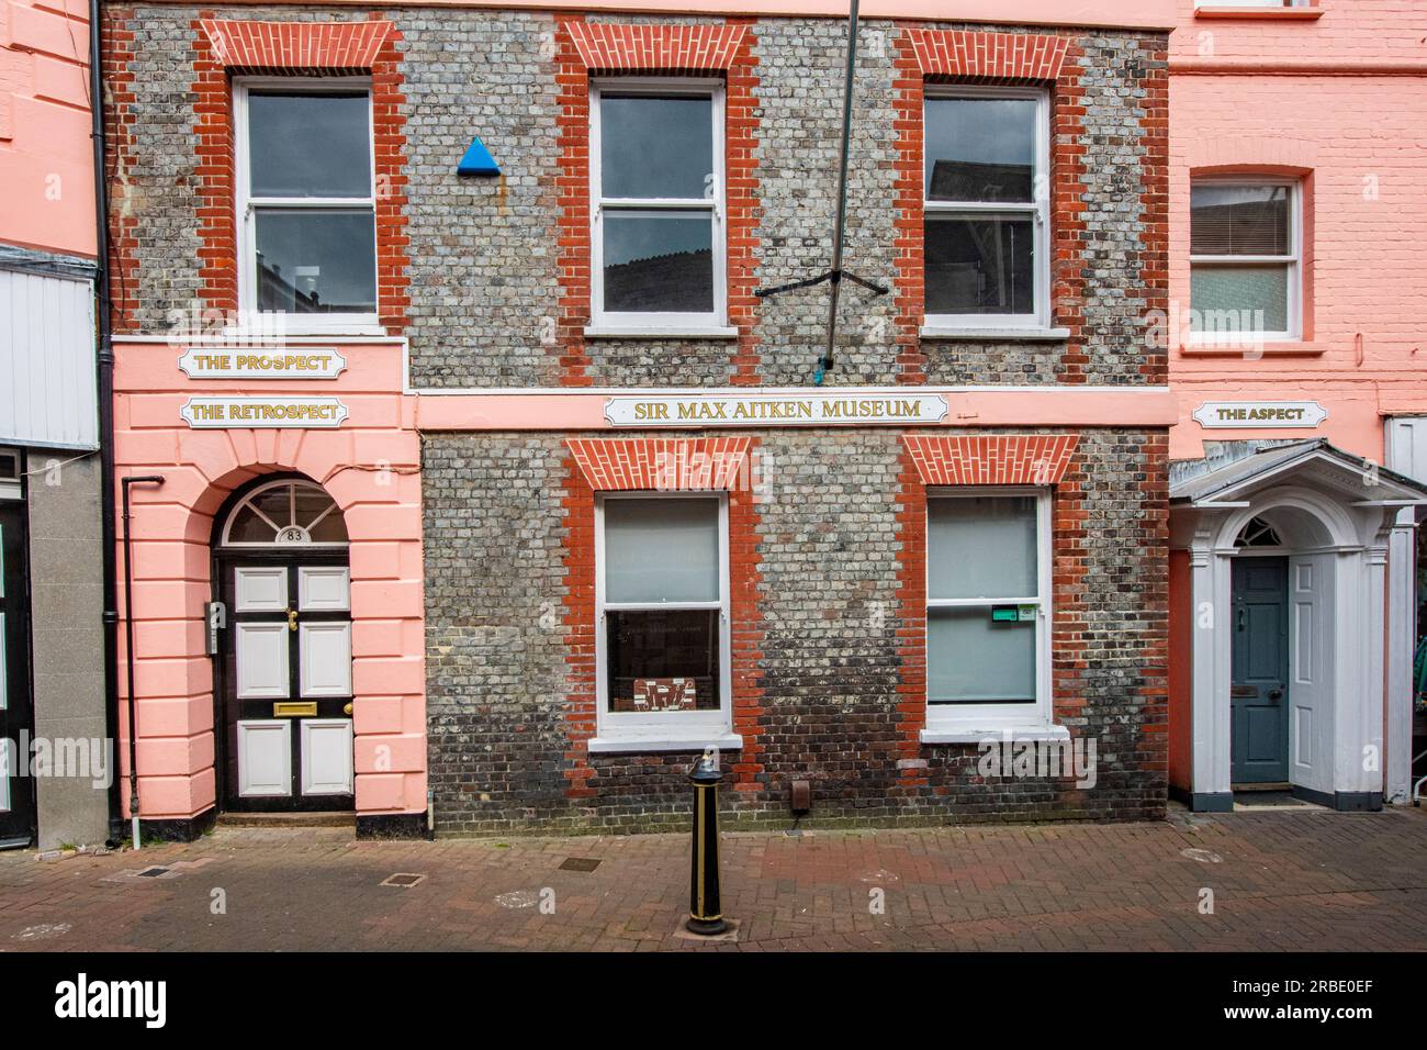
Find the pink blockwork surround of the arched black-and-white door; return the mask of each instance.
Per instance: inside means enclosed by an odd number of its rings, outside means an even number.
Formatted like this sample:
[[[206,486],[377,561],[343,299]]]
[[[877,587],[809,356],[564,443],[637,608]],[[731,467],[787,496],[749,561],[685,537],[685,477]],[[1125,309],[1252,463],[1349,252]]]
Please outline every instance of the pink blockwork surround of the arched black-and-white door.
[[[203,620],[211,594],[213,516],[237,486],[275,470],[323,483],[347,520],[357,811],[425,809],[421,450],[414,407],[398,393],[398,341],[338,346],[348,367],[332,381],[190,380],[177,367],[181,346],[121,341],[117,347],[117,473],[166,477],[161,487],[133,489],[144,817],[195,816],[215,800],[213,667],[204,654]],[[190,430],[178,414],[195,394],[284,393],[340,397],[350,416],[335,430]],[[371,469],[382,466],[390,471]],[[121,696],[123,671],[121,651]],[[120,724],[127,777],[127,711]],[[127,779],[124,784],[127,793]]]

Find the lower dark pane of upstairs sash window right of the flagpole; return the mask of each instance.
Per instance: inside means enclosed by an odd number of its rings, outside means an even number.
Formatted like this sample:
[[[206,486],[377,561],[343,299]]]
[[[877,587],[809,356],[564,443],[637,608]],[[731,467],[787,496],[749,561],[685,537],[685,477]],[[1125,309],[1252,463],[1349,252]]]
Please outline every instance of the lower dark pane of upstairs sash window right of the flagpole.
[[[1030,216],[926,219],[926,313],[1033,314]]]

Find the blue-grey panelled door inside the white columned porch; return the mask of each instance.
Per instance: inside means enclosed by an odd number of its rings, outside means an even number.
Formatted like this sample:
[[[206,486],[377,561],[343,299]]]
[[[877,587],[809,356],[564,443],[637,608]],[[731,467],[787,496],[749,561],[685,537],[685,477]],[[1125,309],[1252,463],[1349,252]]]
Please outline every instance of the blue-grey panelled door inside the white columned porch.
[[[1289,563],[1233,563],[1233,737],[1230,779],[1271,784],[1289,779]]]

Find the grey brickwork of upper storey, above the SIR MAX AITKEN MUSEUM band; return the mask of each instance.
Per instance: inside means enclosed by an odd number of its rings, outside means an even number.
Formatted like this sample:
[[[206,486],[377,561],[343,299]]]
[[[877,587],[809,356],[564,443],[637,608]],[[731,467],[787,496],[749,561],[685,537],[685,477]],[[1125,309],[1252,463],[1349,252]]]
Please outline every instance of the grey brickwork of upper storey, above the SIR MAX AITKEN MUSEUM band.
[[[217,17],[311,20],[321,9],[220,7]],[[197,299],[197,197],[193,149],[193,30],[197,9],[134,7],[131,69],[137,100],[130,116],[136,149],[116,177],[116,206],[136,216],[138,321],[167,327],[170,311]],[[415,386],[541,386],[558,381],[557,179],[559,146],[552,16],[539,11],[400,9],[385,13],[402,40],[410,186],[411,380]],[[591,16],[592,20],[631,20]],[[635,19],[649,21],[656,19]],[[668,21],[718,21],[669,19]],[[940,27],[965,27],[943,23]],[[996,27],[997,31],[1017,31]],[[758,179],[762,286],[809,276],[829,261],[841,111],[845,29],[826,19],[765,19],[756,40],[759,101]],[[846,264],[873,280],[898,279],[893,249],[895,39],[898,27],[863,27],[856,81],[858,123]],[[1087,363],[1076,381],[1142,383],[1163,351],[1144,347],[1134,294],[1146,267],[1143,231],[1146,71],[1163,63],[1142,44],[1163,37],[1086,33],[1086,149],[1080,181],[1087,230],[1080,273],[1086,283]],[[1159,57],[1156,57],[1159,56]],[[455,166],[481,136],[502,179],[461,179]],[[806,383],[826,319],[826,287],[789,293],[759,307],[759,373],[768,384]],[[841,309],[841,353],[829,384],[895,381],[893,304],[849,286]],[[711,386],[733,374],[735,344],[589,341],[589,379],[598,386]],[[1063,344],[925,343],[932,383],[1053,383],[1065,377]],[[1156,357],[1157,356],[1157,357]]]

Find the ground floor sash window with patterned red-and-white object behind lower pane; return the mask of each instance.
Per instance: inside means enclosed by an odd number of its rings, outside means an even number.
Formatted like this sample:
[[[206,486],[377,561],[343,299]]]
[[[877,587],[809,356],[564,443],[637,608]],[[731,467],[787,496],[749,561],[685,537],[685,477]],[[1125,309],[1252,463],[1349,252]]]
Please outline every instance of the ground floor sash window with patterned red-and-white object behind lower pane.
[[[598,503],[599,737],[729,731],[728,510],[721,496]]]

